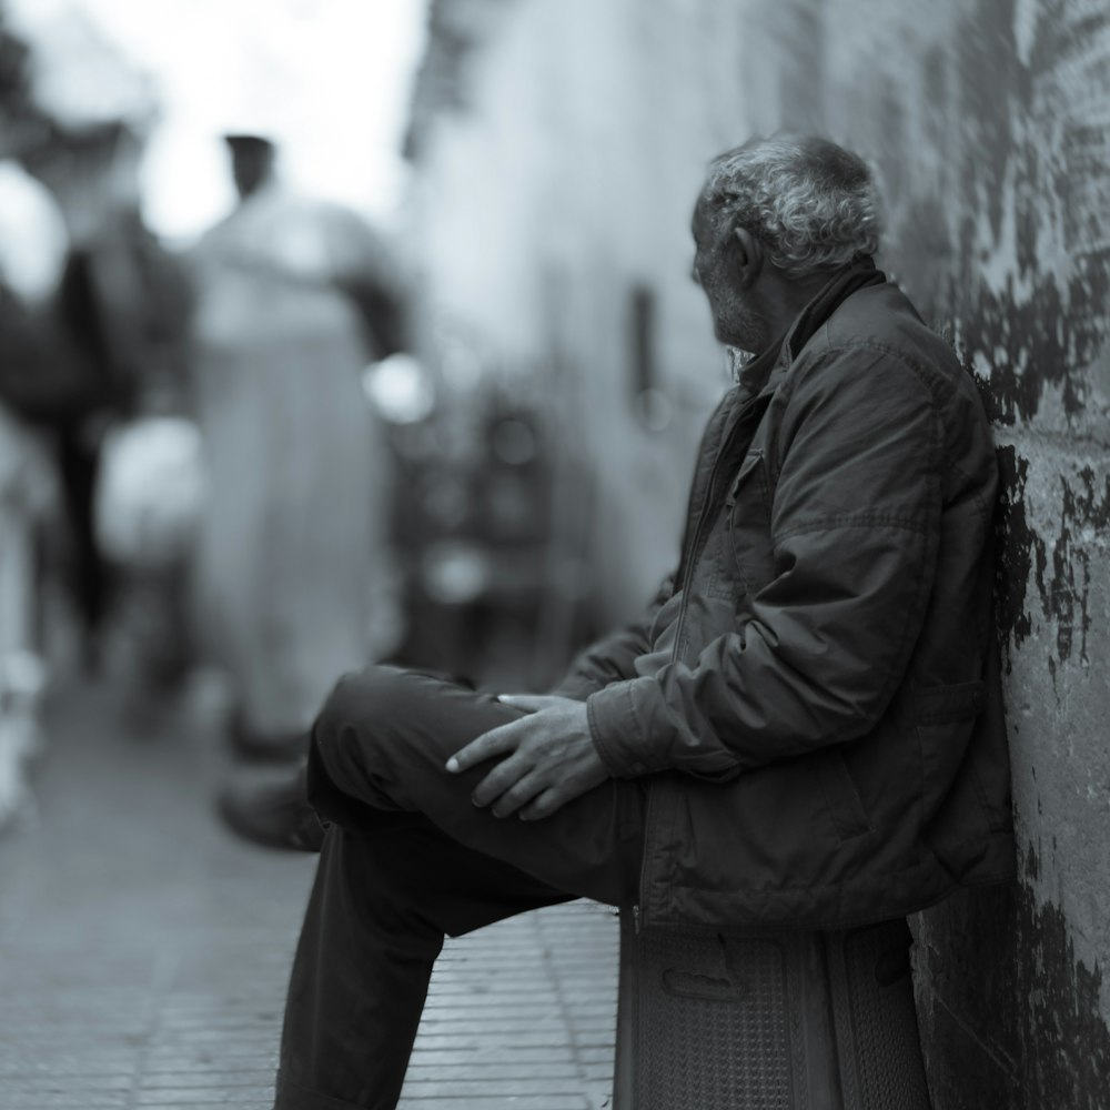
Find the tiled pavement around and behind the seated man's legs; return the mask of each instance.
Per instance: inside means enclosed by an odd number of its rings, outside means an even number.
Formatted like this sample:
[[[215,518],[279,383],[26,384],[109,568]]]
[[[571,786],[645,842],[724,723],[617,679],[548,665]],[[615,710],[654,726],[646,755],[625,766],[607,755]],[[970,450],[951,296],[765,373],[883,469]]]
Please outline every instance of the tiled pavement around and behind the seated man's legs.
[[[266,1110],[313,859],[223,833],[195,723],[85,689],[50,725],[38,810],[0,835],[0,1110]],[[402,1108],[606,1106],[616,965],[584,902],[448,941]]]

